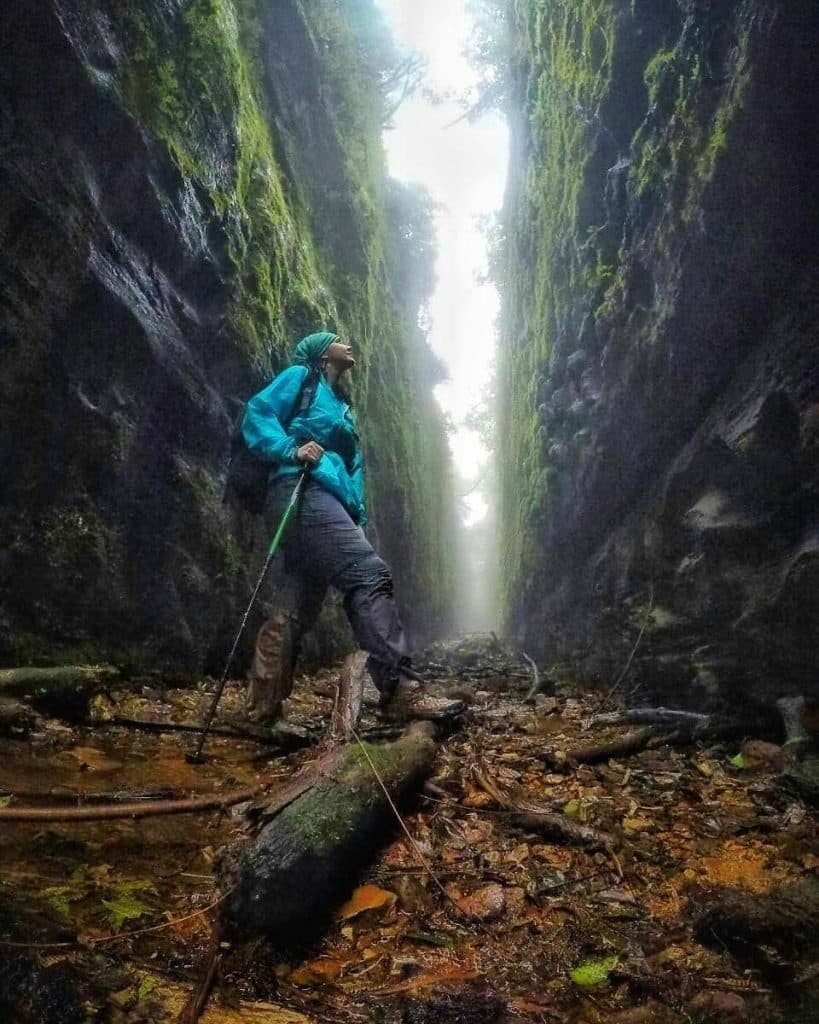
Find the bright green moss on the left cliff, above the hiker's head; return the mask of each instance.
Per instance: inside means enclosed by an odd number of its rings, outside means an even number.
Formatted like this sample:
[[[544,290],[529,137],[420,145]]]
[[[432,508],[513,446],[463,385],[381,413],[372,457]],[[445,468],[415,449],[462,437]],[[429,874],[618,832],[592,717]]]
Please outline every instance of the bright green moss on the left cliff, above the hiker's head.
[[[290,343],[288,312],[333,318],[304,211],[289,201],[264,108],[256,0],[191,0],[118,14],[129,41],[120,91],[206,200],[224,234],[233,334],[270,369]]]

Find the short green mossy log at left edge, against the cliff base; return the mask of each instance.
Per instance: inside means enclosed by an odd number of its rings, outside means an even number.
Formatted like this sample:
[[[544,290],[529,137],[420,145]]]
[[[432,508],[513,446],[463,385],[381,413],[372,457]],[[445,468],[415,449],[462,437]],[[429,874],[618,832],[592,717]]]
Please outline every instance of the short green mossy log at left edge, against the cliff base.
[[[75,720],[87,715],[89,698],[118,676],[110,665],[0,669],[0,693],[26,697],[38,711]]]

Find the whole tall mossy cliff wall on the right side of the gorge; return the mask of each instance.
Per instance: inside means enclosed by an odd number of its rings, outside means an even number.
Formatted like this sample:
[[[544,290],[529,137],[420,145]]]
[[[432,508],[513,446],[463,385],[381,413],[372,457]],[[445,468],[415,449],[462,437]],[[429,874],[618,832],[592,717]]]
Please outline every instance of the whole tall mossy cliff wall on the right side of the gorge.
[[[815,691],[819,17],[516,0],[511,628],[701,701]],[[630,680],[631,682],[631,680]]]

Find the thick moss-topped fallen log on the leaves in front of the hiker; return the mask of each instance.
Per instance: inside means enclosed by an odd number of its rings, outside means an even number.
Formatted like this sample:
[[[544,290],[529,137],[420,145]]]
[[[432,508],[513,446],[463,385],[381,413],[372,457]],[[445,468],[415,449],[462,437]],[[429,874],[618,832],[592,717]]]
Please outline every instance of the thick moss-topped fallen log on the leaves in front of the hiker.
[[[370,761],[398,801],[431,770],[433,734],[416,723],[393,743],[352,743],[331,771],[316,773],[242,853],[222,904],[227,934],[283,943],[317,934],[396,825]]]

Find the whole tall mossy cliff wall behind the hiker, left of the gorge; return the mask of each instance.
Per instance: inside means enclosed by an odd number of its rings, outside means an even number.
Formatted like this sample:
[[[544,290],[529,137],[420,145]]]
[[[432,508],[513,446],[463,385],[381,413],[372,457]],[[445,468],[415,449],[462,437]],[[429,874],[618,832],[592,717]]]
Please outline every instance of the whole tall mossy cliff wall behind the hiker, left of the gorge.
[[[408,624],[445,625],[446,445],[393,296],[373,4],[49,0],[0,29],[0,657],[215,656],[259,555],[220,505],[229,424],[316,327],[356,348]]]

